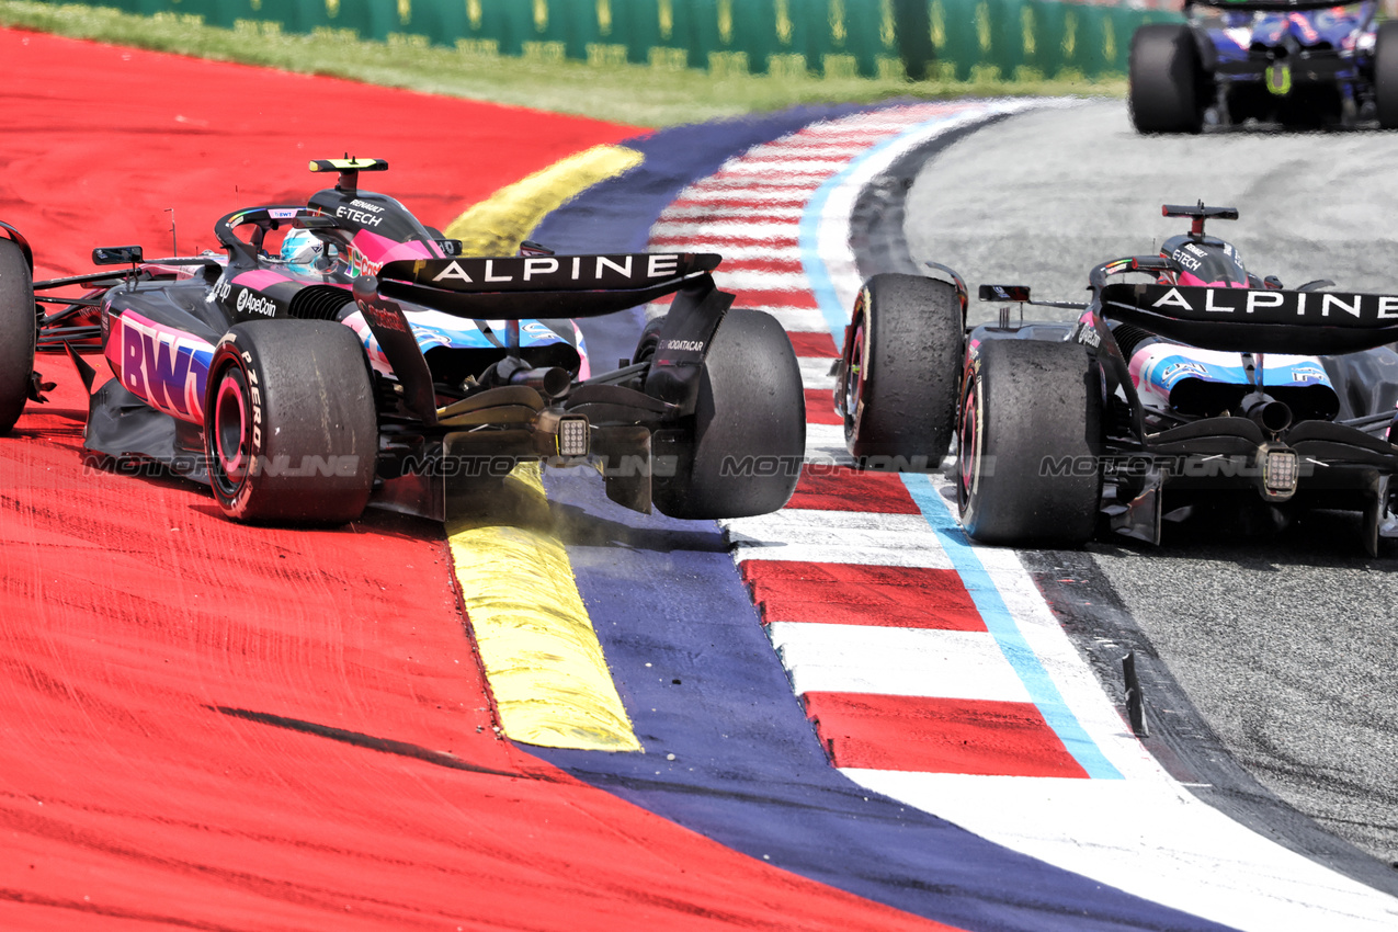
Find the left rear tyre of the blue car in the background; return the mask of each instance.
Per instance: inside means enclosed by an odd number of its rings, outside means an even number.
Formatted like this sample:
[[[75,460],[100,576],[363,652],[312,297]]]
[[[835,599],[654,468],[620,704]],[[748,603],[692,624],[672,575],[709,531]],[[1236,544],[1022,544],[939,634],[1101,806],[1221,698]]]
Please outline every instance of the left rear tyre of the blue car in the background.
[[[1138,133],[1198,133],[1208,84],[1190,27],[1152,22],[1131,36],[1127,102]]]

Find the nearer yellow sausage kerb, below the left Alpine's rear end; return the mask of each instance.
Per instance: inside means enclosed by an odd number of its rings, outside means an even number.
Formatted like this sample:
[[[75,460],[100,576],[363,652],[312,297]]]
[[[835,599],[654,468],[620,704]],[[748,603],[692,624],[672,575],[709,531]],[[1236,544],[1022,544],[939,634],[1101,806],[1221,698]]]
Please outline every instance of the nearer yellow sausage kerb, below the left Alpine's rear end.
[[[488,514],[452,509],[446,528],[500,728],[544,748],[642,750],[568,552],[530,527],[548,514],[538,464],[519,465],[503,485]],[[516,520],[500,523],[502,511]]]

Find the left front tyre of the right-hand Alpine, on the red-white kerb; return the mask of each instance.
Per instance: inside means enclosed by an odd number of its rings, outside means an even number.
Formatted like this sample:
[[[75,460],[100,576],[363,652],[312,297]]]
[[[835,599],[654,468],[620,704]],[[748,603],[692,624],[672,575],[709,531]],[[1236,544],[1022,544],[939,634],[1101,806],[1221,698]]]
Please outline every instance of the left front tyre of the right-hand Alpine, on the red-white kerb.
[[[956,429],[965,333],[956,289],[874,275],[854,300],[844,377],[844,446],[865,468],[935,469]]]

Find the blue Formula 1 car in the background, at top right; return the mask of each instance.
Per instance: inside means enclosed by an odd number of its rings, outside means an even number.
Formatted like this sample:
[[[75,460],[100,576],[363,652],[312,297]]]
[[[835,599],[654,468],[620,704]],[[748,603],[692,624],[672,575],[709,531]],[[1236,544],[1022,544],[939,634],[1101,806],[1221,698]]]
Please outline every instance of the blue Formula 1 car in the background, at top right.
[[[1398,127],[1398,21],[1377,0],[1186,0],[1184,24],[1131,39],[1131,119],[1141,133],[1250,120],[1299,129]]]

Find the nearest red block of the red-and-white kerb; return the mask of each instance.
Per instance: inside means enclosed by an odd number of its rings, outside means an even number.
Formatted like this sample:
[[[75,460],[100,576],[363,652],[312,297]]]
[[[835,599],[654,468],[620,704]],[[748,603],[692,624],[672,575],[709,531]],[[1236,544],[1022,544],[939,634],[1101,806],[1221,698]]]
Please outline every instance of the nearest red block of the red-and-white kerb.
[[[1033,703],[805,693],[836,767],[1004,777],[1086,777]]]

